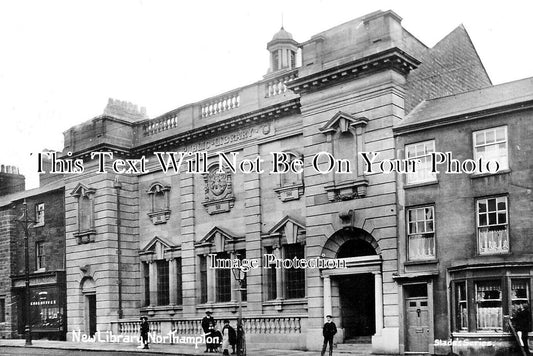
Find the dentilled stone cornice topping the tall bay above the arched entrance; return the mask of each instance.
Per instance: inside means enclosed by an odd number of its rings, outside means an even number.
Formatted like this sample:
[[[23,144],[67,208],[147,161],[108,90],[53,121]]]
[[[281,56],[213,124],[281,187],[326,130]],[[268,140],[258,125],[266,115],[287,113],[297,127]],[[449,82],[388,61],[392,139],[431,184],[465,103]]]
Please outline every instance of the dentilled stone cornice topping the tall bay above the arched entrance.
[[[407,75],[411,70],[417,68],[419,64],[420,61],[416,58],[397,47],[393,47],[377,54],[300,77],[288,83],[287,87],[297,94],[312,92],[346,80],[353,80],[362,75],[387,69],[393,69]]]

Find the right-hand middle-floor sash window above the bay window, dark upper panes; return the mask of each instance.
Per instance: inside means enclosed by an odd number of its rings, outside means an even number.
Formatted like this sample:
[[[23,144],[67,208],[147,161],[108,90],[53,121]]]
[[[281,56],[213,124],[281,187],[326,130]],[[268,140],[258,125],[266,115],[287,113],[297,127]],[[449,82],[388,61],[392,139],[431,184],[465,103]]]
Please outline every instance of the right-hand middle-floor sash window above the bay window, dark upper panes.
[[[477,201],[478,248],[480,254],[509,252],[507,197]]]

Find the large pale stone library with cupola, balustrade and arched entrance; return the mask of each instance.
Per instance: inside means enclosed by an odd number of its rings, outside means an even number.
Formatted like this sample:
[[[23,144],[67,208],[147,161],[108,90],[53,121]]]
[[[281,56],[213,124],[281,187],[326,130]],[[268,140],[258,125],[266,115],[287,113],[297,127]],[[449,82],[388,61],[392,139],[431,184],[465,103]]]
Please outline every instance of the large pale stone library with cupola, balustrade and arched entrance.
[[[324,257],[347,268],[247,273],[248,342],[317,349],[332,314],[339,343],[399,351],[396,178],[365,174],[358,153],[394,158],[392,128],[406,109],[490,80],[463,27],[428,48],[392,11],[302,43],[282,28],[267,50],[270,68],[258,82],[153,119],[110,100],[103,115],[65,132],[64,158],[85,166],[64,178],[69,331],[136,334],[143,314],[158,333],[198,334],[208,309],[236,318],[236,282],[209,267],[210,254]],[[95,151],[144,156],[147,171],[97,173]],[[169,151],[207,151],[207,172],[163,172],[154,152]],[[217,151],[259,156],[266,172],[231,174]],[[271,152],[302,159],[303,172],[269,174]],[[319,152],[349,159],[352,172],[320,174]]]

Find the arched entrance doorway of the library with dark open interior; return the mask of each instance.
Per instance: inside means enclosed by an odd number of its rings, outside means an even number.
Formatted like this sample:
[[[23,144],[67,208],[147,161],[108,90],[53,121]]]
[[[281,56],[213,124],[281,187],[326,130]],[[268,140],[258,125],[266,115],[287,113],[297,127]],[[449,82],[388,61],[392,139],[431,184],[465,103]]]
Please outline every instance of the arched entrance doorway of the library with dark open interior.
[[[372,235],[358,228],[339,230],[324,245],[324,255],[346,261],[347,268],[322,271],[324,312],[338,320],[345,343],[370,343],[383,328],[380,252]]]

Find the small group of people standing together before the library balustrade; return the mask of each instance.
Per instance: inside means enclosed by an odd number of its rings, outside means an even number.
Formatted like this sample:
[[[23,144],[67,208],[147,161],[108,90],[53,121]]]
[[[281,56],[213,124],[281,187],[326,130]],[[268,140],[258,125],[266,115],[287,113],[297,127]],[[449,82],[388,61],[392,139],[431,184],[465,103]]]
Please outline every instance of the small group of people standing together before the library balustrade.
[[[225,319],[222,330],[218,330],[212,312],[208,310],[205,314],[202,319],[202,329],[206,339],[205,352],[218,352],[220,349],[223,355],[229,355],[231,347],[231,354],[235,354],[237,333],[229,324],[229,320]]]

